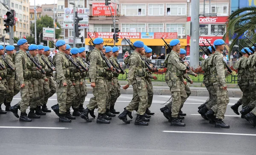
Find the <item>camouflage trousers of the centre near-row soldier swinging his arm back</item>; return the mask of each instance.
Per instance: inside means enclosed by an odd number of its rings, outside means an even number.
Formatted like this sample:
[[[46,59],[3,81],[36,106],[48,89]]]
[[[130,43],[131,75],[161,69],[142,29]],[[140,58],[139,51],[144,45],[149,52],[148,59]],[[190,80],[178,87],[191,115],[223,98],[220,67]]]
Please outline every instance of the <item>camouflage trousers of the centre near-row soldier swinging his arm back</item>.
[[[148,104],[148,92],[144,79],[136,78],[131,82],[134,94],[126,109],[130,112],[137,109],[137,114],[144,115]]]

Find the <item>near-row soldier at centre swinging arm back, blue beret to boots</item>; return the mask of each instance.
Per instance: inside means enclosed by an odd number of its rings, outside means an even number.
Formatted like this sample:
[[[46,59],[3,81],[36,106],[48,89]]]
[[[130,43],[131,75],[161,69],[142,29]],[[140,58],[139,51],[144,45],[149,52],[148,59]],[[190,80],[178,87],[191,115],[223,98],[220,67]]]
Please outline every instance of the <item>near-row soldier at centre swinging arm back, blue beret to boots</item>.
[[[132,84],[134,94],[131,102],[124,108],[124,111],[118,118],[129,124],[130,121],[127,120],[127,115],[131,118],[131,112],[138,108],[137,118],[134,124],[148,125],[148,122],[143,121],[143,116],[148,104],[148,92],[144,76],[149,69],[144,68],[145,63],[141,59],[141,55],[145,54],[144,43],[142,41],[136,41],[134,42],[134,47],[135,50],[129,58],[128,83],[123,87],[123,89],[127,89]]]

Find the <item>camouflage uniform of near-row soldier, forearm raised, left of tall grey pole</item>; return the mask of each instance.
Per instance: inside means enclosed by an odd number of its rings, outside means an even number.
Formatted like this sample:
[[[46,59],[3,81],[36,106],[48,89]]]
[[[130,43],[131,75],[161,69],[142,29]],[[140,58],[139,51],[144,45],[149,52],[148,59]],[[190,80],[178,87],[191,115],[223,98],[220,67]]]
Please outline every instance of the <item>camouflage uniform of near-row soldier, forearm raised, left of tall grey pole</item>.
[[[165,80],[172,93],[172,117],[177,118],[181,107],[181,98],[182,101],[187,98],[182,77],[182,72],[186,70],[187,65],[180,62],[179,54],[175,51],[171,51],[166,59],[167,73]]]

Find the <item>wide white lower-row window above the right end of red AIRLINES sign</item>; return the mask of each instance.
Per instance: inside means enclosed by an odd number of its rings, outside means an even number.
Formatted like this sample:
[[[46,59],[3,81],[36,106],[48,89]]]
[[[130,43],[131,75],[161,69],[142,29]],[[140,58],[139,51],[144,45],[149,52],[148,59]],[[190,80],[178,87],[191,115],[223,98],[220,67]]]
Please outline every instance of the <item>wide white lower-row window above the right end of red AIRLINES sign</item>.
[[[122,32],[145,32],[145,24],[122,24]]]

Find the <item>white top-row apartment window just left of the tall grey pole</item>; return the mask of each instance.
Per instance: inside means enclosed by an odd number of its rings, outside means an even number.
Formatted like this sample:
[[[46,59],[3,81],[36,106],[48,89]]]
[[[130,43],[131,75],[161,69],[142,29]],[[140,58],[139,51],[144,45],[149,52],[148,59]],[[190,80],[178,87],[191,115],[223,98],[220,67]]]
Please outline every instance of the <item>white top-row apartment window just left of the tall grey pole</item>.
[[[186,4],[166,4],[167,15],[186,15]]]

